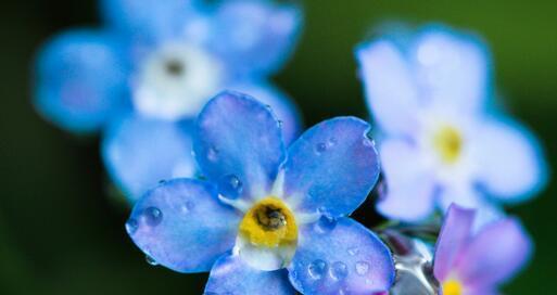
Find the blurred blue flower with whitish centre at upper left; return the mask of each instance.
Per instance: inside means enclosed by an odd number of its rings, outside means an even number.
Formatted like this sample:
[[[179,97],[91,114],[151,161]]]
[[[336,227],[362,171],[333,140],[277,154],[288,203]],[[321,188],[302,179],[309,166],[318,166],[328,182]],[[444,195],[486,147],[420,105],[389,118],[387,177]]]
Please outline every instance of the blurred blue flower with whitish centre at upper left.
[[[159,180],[191,177],[191,121],[223,89],[274,107],[287,142],[300,129],[268,82],[296,42],[301,12],[267,0],[103,0],[107,25],[51,40],[36,67],[40,113],[75,132],[106,131],[109,174],[130,201]]]

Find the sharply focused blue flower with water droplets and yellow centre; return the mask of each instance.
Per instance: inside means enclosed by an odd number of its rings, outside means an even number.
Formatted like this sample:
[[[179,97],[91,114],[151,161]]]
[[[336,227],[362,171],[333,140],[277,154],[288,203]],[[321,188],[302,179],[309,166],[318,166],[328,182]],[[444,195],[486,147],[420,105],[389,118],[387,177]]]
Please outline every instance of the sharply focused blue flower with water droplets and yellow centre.
[[[379,175],[367,123],[322,121],[287,150],[268,107],[224,92],[193,128],[205,180],[173,179],[136,203],[126,228],[145,255],[175,271],[211,271],[206,294],[390,287],[390,251],[346,217]]]

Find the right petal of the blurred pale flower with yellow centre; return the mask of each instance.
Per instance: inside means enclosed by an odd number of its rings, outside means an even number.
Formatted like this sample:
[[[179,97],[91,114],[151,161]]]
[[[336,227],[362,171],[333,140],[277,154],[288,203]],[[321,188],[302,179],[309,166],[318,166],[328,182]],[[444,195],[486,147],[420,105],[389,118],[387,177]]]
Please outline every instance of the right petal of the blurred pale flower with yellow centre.
[[[518,124],[485,121],[471,143],[481,163],[479,181],[495,197],[520,201],[534,195],[545,183],[540,145]]]

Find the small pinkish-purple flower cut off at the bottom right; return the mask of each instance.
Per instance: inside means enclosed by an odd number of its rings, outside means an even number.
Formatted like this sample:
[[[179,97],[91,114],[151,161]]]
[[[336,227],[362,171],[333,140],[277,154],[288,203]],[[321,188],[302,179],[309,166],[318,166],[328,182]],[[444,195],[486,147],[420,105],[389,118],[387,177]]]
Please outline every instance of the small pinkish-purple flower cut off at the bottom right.
[[[505,218],[473,233],[474,214],[455,205],[447,210],[433,262],[442,294],[498,294],[497,286],[530,258],[531,241],[518,220]]]

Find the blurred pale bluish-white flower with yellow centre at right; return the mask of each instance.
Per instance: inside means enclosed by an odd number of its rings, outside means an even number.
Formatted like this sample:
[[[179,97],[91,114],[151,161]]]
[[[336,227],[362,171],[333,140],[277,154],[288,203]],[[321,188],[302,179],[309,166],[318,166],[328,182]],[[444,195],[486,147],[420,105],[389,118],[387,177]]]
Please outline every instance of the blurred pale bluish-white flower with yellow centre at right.
[[[496,203],[541,189],[546,172],[534,137],[489,112],[491,68],[481,42],[432,26],[410,40],[363,44],[357,60],[382,133],[388,189],[380,213],[419,221],[454,202],[482,208],[481,223],[499,215]]]

